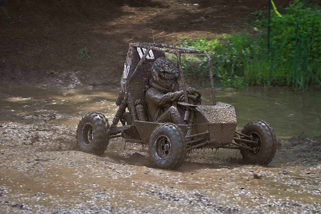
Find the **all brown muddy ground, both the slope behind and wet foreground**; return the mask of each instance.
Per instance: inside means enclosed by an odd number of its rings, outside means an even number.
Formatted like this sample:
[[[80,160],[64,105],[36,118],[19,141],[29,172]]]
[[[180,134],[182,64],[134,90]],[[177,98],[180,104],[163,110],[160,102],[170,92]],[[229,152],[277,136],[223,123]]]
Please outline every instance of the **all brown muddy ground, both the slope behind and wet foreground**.
[[[265,4],[5,1],[0,213],[321,213],[320,136],[279,138],[268,166],[248,165],[238,151],[197,150],[177,171],[153,168],[146,147],[123,140],[101,157],[76,147],[84,113],[115,114],[129,42],[152,42],[152,31],[155,42],[176,44],[251,30],[244,23]]]

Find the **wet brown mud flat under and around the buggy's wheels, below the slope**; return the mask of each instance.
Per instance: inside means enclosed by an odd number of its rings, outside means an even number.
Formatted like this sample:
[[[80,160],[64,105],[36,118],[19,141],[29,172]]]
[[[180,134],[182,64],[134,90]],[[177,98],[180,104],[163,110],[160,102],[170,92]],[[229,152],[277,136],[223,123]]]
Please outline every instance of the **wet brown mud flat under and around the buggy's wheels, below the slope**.
[[[321,136],[282,138],[277,124],[282,148],[268,166],[221,149],[162,170],[147,147],[122,139],[102,156],[78,151],[80,117],[95,110],[111,121],[118,91],[1,88],[1,213],[321,213]]]

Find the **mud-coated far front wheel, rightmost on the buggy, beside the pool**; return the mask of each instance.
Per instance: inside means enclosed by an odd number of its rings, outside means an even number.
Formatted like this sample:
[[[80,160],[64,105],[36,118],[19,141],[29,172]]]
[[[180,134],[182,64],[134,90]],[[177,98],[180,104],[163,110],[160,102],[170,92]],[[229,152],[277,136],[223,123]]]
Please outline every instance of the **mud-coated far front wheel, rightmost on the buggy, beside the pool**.
[[[245,143],[256,151],[241,150],[243,159],[252,164],[268,165],[276,152],[276,137],[272,127],[262,120],[254,120],[244,126],[242,133],[258,141],[257,145]]]

